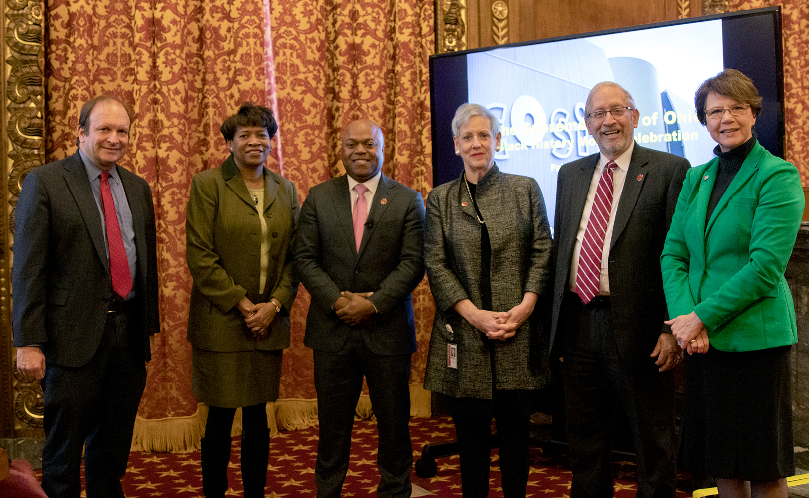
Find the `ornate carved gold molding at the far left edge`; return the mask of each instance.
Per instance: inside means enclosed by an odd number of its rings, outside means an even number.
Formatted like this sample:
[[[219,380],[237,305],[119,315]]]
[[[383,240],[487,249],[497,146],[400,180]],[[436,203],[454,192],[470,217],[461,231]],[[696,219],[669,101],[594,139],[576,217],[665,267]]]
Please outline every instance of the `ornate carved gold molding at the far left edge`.
[[[10,272],[19,189],[28,171],[44,163],[44,4],[40,0],[5,0],[3,12],[6,14],[2,37],[6,56],[2,148],[5,181],[0,189],[6,203],[0,217],[0,341],[6,366],[0,394],[12,403],[8,403],[8,409],[0,417],[6,437],[42,437],[39,382],[25,382],[15,374],[16,362],[11,353]]]

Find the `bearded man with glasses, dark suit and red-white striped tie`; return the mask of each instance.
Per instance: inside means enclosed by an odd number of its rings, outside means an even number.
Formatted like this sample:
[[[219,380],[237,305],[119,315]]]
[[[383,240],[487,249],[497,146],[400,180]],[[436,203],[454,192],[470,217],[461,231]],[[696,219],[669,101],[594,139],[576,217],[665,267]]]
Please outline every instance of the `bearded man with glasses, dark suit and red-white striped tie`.
[[[640,116],[613,82],[585,108],[593,154],[561,167],[552,351],[563,357],[571,498],[612,496],[612,418],[632,429],[639,498],[675,495],[674,382],[660,253],[688,161],[633,141]],[[555,344],[554,344],[555,341]]]

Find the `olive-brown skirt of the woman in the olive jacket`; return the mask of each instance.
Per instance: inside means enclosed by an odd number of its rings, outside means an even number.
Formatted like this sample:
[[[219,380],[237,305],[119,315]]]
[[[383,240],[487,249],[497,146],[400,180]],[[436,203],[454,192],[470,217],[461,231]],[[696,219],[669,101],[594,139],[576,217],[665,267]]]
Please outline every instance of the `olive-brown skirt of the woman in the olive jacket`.
[[[191,349],[191,386],[198,401],[235,408],[278,399],[283,349],[238,352]]]

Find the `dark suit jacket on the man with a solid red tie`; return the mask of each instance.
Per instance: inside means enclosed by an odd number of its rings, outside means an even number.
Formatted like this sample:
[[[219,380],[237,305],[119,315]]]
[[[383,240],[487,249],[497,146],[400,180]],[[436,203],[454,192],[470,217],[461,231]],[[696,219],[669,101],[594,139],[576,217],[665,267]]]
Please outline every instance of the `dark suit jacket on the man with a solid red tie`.
[[[116,168],[132,211],[140,320],[135,326],[149,361],[149,336],[159,331],[155,208],[146,180]],[[102,230],[78,150],[28,173],[15,213],[15,346],[41,344],[46,361],[55,365],[90,361],[104,333],[111,292]]]

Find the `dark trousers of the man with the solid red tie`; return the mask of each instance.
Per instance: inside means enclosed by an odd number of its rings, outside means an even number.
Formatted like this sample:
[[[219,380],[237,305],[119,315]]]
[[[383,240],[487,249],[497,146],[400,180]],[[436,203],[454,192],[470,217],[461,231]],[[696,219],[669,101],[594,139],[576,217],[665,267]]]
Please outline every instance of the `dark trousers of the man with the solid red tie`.
[[[104,336],[87,365],[45,365],[42,487],[50,498],[78,498],[84,447],[87,498],[123,498],[132,431],[143,388],[142,331],[133,310],[107,314]]]

